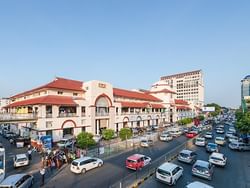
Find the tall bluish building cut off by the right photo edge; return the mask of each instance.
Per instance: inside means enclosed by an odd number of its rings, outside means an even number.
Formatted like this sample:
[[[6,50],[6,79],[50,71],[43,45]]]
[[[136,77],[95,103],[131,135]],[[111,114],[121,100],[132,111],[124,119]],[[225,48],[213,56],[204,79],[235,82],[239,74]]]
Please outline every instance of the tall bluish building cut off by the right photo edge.
[[[243,110],[250,108],[250,75],[241,80],[241,106]]]

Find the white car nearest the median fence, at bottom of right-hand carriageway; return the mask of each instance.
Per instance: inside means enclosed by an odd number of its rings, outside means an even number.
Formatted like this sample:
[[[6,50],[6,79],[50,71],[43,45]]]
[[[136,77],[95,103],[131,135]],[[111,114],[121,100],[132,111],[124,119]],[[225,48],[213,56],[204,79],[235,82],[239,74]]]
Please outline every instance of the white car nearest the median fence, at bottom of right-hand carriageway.
[[[155,177],[158,181],[175,185],[183,175],[183,168],[173,163],[165,162],[156,169]]]

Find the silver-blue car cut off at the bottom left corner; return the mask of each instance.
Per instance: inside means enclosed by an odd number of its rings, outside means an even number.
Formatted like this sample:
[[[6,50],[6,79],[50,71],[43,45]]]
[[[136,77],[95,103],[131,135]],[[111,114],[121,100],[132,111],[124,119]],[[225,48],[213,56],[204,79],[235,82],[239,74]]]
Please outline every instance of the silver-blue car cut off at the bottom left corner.
[[[29,174],[14,174],[5,178],[0,187],[2,188],[30,188],[34,184],[34,177]]]

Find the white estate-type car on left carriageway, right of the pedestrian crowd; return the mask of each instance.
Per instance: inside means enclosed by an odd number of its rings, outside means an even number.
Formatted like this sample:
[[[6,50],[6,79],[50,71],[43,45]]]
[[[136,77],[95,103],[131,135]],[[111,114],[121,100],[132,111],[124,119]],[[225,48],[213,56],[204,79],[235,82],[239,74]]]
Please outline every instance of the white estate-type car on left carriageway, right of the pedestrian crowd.
[[[103,165],[103,161],[98,158],[93,157],[83,157],[79,159],[75,159],[72,161],[70,170],[76,174],[85,174],[87,171],[101,167]]]

